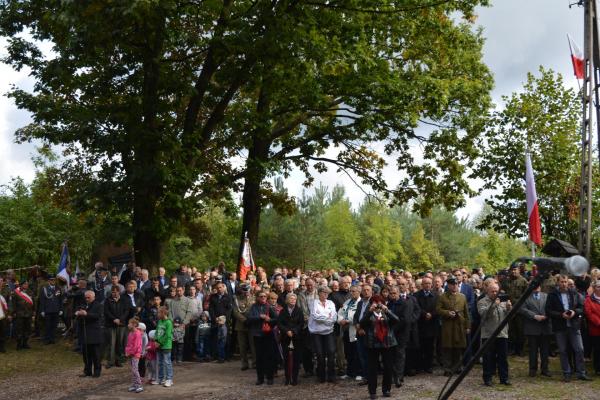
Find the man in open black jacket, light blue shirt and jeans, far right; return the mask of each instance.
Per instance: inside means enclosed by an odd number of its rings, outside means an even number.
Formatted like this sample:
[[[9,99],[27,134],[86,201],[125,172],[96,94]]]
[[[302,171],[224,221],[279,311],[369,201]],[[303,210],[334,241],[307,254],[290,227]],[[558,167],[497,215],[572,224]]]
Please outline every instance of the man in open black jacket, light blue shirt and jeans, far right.
[[[583,358],[583,342],[579,330],[583,315],[583,302],[575,290],[568,288],[569,278],[566,275],[558,277],[558,289],[548,294],[546,300],[546,315],[552,320],[552,330],[556,337],[560,352],[560,366],[563,370],[564,381],[571,380],[569,365],[569,344],[575,355],[575,372],[580,380],[590,380],[585,372]]]

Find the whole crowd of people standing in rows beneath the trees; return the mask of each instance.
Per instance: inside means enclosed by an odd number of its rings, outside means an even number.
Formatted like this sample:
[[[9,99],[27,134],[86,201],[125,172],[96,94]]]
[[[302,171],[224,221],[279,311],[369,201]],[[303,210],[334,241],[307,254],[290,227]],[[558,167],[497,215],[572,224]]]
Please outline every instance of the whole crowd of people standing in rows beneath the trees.
[[[529,376],[550,376],[558,352],[562,378],[600,375],[600,271],[571,279],[549,274],[497,337],[492,333],[536,275],[525,264],[493,276],[481,268],[452,271],[301,271],[258,268],[244,280],[225,265],[209,271],[163,268],[150,278],[129,263],[96,263],[71,285],[42,269],[18,280],[0,277],[0,351],[7,337],[19,351],[31,336],[52,345],[62,328],[84,359],[82,377],[102,368],[131,370],[132,392],[143,383],[173,385],[173,363],[231,362],[256,371],[257,385],[352,379],[389,397],[405,377],[461,371],[481,343],[483,383],[510,385],[508,355],[529,351]],[[527,343],[527,347],[525,344]],[[236,357],[237,358],[237,357]]]

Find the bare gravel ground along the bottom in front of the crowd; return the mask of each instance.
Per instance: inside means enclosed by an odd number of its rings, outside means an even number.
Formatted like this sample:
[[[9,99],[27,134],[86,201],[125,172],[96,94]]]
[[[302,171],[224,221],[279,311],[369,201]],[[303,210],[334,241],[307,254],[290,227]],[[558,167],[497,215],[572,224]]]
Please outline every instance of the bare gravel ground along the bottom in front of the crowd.
[[[555,363],[553,363],[555,364]],[[496,385],[487,388],[481,385],[481,372],[477,367],[465,379],[453,399],[598,399],[600,379],[593,382],[572,382],[564,384],[555,370],[555,377],[528,378],[521,376],[526,367],[525,359],[511,359],[513,386]],[[9,381],[0,381],[1,399],[63,399],[63,400],[108,400],[108,399],[366,399],[365,386],[354,381],[340,381],[337,384],[317,384],[312,379],[300,380],[296,387],[282,384],[283,377],[276,378],[273,386],[255,386],[254,371],[242,372],[239,362],[225,364],[182,363],[175,366],[174,382],[171,388],[145,386],[140,394],[127,392],[129,371],[124,368],[104,370],[100,378],[78,378],[80,369],[63,372],[19,376]],[[406,378],[406,384],[392,388],[392,398],[396,399],[435,399],[445,378],[436,373]],[[381,389],[380,389],[381,390]],[[380,393],[380,392],[379,392]],[[175,397],[176,396],[176,397]]]

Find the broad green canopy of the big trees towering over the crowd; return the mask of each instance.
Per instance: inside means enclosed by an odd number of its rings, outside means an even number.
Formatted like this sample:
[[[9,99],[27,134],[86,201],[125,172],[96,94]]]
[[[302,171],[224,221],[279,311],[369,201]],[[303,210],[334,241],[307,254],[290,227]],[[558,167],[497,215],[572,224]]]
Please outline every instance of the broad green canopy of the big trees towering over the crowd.
[[[241,178],[296,166],[310,182],[330,163],[387,189],[373,141],[405,173],[397,201],[460,206],[492,87],[471,22],[488,3],[0,0],[3,61],[36,80],[9,93],[34,117],[17,139],[61,144],[57,182],[73,204],[120,214],[154,267],[162,243]],[[426,137],[420,121],[434,127]]]

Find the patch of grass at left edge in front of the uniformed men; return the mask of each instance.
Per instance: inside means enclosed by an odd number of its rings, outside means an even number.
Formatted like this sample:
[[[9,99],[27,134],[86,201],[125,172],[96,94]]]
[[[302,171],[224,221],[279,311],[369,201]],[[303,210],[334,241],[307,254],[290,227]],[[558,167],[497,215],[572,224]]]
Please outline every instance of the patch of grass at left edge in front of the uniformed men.
[[[81,355],[71,351],[72,345],[67,342],[58,341],[44,346],[41,341],[32,339],[29,345],[30,350],[16,351],[15,341],[8,341],[6,353],[0,354],[0,380],[15,375],[61,371],[82,365]]]

